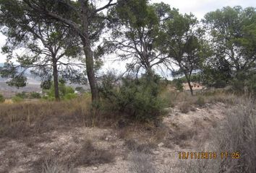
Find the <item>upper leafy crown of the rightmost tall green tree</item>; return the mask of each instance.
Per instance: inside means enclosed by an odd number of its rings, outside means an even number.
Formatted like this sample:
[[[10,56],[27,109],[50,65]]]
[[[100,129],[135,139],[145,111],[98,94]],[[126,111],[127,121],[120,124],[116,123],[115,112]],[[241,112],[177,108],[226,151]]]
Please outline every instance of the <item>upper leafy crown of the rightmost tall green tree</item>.
[[[229,65],[234,79],[243,80],[255,68],[256,8],[223,7],[205,15],[216,61]]]

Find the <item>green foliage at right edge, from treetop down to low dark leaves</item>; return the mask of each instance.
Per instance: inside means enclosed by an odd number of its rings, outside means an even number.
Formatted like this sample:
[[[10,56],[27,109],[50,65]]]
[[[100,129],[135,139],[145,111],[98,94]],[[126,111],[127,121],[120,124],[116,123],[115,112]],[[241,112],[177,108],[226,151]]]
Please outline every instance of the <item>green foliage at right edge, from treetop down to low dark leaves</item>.
[[[236,91],[248,85],[256,61],[255,19],[255,7],[226,6],[205,15],[213,53],[203,71],[205,83],[217,87],[231,83]]]

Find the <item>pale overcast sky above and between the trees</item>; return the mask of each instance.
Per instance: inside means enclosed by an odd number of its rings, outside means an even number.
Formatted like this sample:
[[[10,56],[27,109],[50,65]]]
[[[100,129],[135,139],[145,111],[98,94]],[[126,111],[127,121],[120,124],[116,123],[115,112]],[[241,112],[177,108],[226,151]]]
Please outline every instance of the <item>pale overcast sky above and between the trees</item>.
[[[159,3],[163,1],[166,4],[170,4],[171,8],[179,9],[181,13],[195,14],[198,19],[202,19],[207,12],[221,9],[223,6],[242,6],[243,8],[248,6],[256,7],[255,0],[151,0],[151,3]],[[103,4],[103,1],[101,2]],[[5,43],[4,35],[0,34],[0,47]],[[5,56],[0,53],[0,63],[4,63]],[[104,68],[124,68],[125,64],[106,62]]]

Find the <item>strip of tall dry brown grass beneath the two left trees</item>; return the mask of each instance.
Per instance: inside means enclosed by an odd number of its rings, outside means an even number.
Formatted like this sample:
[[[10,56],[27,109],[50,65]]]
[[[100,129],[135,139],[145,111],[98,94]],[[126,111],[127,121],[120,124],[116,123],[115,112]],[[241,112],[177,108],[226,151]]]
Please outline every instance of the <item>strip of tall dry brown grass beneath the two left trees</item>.
[[[90,98],[61,102],[21,102],[0,105],[0,136],[17,138],[70,125],[92,126],[97,122]]]

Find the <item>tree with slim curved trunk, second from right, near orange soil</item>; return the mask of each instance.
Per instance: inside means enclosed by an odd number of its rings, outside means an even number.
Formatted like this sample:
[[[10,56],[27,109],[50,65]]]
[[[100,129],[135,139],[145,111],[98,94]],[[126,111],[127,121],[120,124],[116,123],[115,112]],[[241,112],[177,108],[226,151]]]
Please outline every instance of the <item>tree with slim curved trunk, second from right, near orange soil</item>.
[[[179,67],[173,74],[184,75],[187,79],[191,94],[193,94],[191,76],[192,72],[200,69],[204,53],[204,41],[201,39],[203,30],[198,27],[198,21],[192,14],[179,14],[176,12],[163,25],[165,30],[162,39],[162,53],[168,55],[171,63]],[[171,66],[171,64],[169,64]]]

